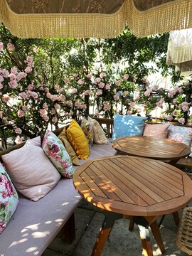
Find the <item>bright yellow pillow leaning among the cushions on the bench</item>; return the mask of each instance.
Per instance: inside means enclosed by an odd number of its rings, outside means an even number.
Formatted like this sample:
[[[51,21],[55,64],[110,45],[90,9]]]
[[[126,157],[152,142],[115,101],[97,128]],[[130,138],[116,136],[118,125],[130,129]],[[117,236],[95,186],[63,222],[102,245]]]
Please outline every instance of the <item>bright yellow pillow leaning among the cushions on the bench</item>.
[[[72,119],[67,129],[67,136],[78,158],[86,160],[90,155],[90,149],[84,132],[82,132],[79,124],[74,119]]]

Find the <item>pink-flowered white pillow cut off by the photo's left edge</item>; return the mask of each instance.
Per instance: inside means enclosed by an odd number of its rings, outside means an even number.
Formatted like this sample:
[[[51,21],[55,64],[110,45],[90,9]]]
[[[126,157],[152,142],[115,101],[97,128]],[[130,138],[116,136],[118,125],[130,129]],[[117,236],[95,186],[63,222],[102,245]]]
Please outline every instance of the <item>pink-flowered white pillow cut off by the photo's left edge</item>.
[[[0,234],[14,214],[18,205],[18,194],[9,175],[0,163]]]

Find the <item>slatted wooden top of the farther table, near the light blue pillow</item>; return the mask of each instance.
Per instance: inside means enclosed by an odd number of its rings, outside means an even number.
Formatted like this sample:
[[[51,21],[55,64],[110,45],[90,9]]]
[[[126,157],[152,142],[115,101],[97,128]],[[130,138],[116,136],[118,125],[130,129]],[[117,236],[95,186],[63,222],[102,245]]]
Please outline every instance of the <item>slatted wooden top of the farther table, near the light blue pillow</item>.
[[[190,147],[181,142],[148,136],[120,137],[112,145],[120,154],[156,160],[178,160],[191,153]]]

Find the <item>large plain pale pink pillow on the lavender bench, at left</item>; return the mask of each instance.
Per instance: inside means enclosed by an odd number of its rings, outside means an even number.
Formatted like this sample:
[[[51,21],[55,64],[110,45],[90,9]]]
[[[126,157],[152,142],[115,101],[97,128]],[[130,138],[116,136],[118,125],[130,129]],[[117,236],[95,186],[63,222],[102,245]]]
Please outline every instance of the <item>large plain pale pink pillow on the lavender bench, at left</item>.
[[[60,174],[41,148],[41,138],[28,139],[20,149],[2,156],[14,186],[27,198],[38,201],[60,180]]]

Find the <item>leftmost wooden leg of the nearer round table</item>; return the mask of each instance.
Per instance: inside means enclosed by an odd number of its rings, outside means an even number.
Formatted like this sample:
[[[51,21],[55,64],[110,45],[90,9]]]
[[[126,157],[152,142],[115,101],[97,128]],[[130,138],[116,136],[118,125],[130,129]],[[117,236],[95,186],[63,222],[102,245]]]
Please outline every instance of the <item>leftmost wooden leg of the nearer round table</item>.
[[[100,233],[97,236],[97,240],[93,247],[91,256],[101,255],[105,242],[110,235],[112,226],[114,225],[114,220],[118,220],[119,218],[122,218],[122,214],[119,214],[119,213],[112,213],[107,210],[102,211],[102,213],[105,214],[105,219],[102,223],[102,228],[100,228]]]

